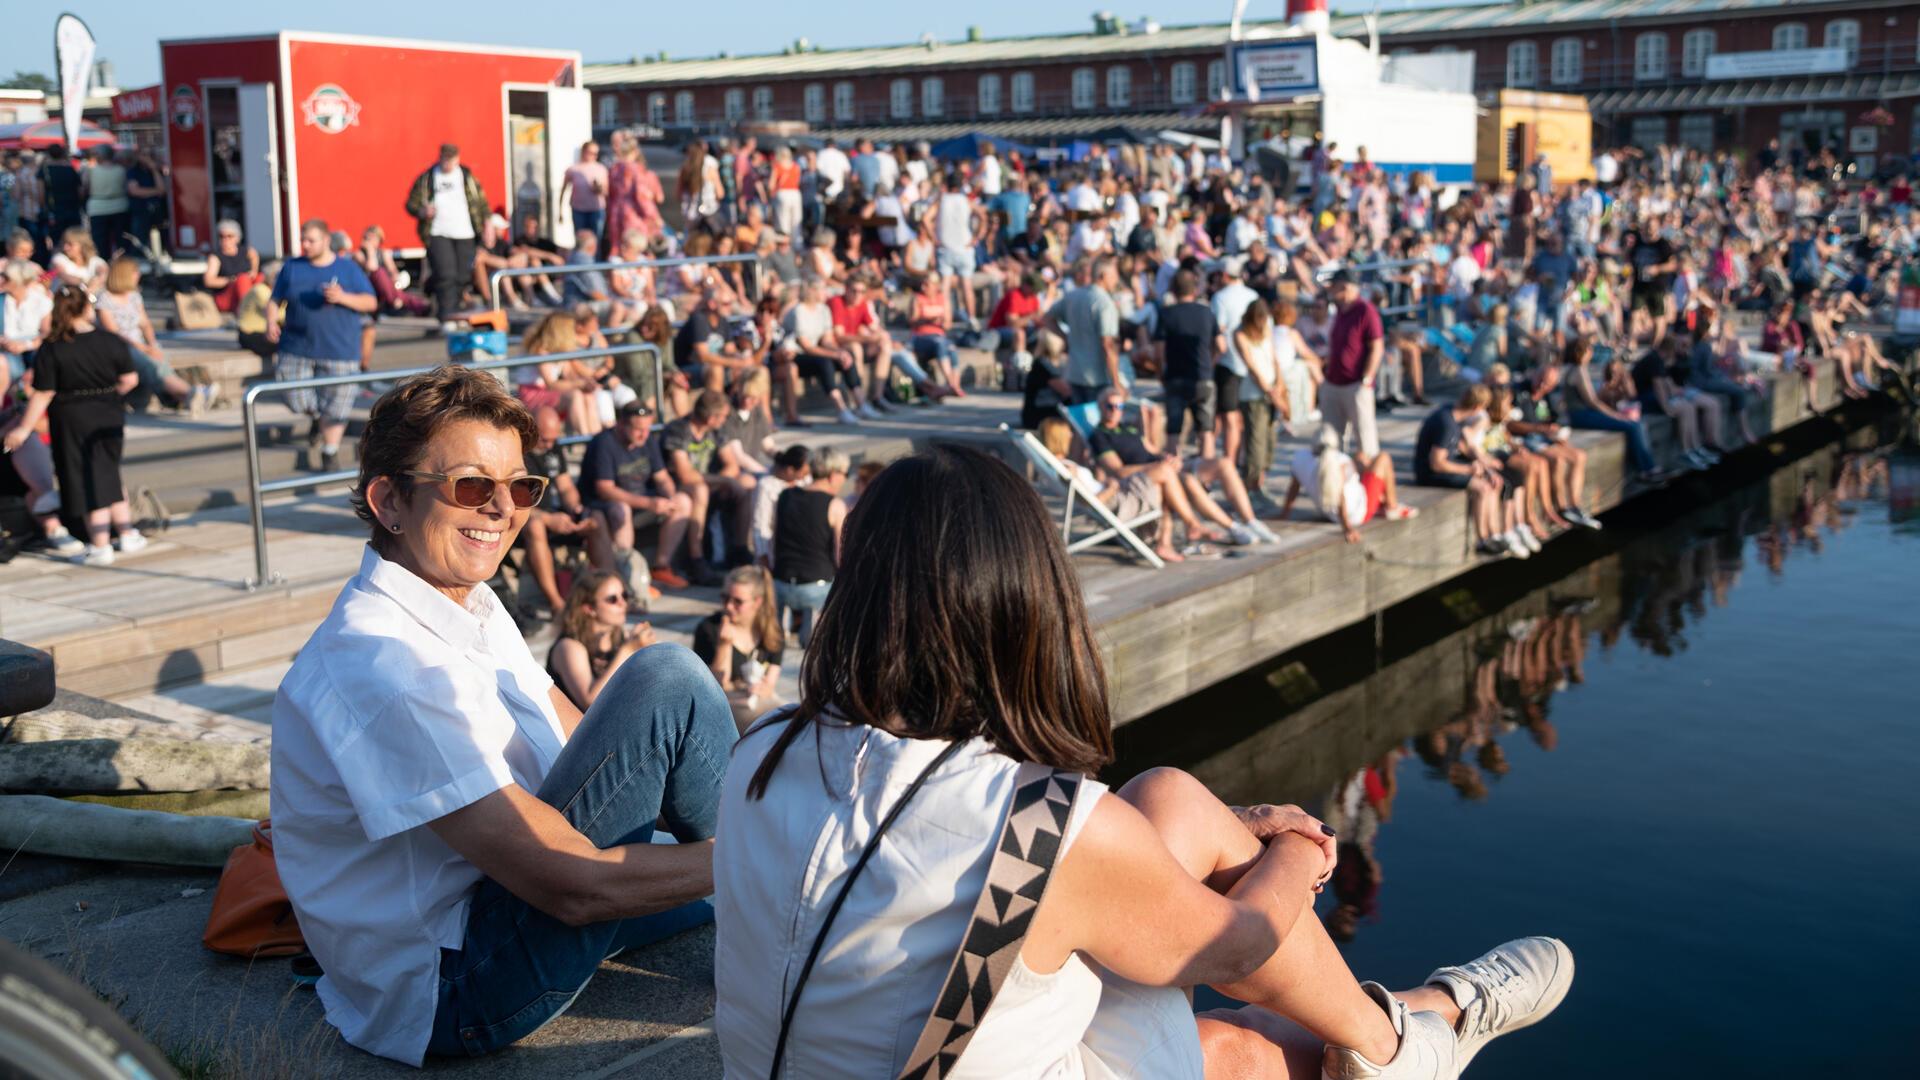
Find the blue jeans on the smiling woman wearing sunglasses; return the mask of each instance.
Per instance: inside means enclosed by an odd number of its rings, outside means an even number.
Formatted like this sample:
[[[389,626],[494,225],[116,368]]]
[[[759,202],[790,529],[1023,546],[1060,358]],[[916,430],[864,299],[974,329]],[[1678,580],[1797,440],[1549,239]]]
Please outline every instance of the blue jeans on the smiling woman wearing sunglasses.
[[[710,840],[735,730],[707,665],[682,646],[651,646],[628,657],[593,700],[538,796],[595,847],[647,844],[659,819],[684,844]],[[440,951],[426,1053],[478,1057],[526,1038],[564,1013],[607,957],[712,917],[701,899],[568,926],[482,880],[467,938]]]

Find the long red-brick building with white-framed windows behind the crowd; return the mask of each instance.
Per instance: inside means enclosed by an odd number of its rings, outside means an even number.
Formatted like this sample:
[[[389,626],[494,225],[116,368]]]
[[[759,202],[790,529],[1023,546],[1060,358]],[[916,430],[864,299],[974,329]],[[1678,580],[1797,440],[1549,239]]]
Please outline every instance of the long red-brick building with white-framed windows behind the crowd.
[[[1283,23],[1250,21],[1248,29]],[[1367,33],[1336,15],[1332,33]],[[1586,94],[1596,144],[1839,144],[1920,152],[1920,4],[1912,0],[1534,0],[1388,12],[1386,54],[1473,52],[1475,88]],[[1125,123],[1212,131],[1227,25],[1094,15],[1091,33],[589,63],[595,123],[943,138],[1069,138]]]

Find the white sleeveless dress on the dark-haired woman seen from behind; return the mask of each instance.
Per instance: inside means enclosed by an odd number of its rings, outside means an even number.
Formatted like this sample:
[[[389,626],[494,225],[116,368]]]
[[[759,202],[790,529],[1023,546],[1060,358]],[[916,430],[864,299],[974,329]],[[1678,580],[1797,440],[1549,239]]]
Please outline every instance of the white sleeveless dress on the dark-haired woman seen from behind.
[[[876,826],[945,742],[810,724],[766,796],[747,782],[785,724],[733,749],[714,842],[714,1024],[726,1076],[762,1080],[780,1017],[828,907]],[[973,740],[887,830],[808,976],[781,1076],[891,1080],[906,1065],[960,947],[1012,801],[1018,763]],[[1106,786],[1068,821],[1071,847]],[[1062,853],[1066,851],[1062,849]],[[1041,974],[1016,961],[954,1080],[1194,1078],[1187,995],[1100,972],[1079,955]]]

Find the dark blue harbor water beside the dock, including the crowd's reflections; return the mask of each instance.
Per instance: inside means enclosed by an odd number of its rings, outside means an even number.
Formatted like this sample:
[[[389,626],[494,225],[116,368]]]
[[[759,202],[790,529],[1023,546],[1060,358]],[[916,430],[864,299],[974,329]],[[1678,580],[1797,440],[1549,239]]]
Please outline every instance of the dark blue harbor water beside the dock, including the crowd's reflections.
[[[1572,994],[1473,1076],[1914,1074],[1903,423],[1774,446],[1210,688],[1121,728],[1110,778],[1179,765],[1332,822],[1317,913],[1359,978],[1565,938]]]

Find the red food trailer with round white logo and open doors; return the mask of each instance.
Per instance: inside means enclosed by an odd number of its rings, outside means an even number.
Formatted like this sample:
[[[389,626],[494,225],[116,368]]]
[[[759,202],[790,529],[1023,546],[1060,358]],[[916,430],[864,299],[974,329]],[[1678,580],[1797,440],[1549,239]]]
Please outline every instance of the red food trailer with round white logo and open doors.
[[[159,67],[179,254],[211,250],[227,217],[263,258],[298,254],[313,217],[419,254],[407,190],[442,142],[493,209],[572,244],[561,177],[591,138],[578,52],[282,31],[159,42]]]

